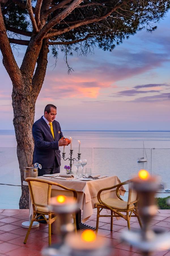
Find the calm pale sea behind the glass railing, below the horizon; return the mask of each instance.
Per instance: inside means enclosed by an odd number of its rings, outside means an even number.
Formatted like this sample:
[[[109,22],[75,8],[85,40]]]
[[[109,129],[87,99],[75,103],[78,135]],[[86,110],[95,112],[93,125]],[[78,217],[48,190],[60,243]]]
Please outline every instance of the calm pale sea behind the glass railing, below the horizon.
[[[80,140],[81,158],[87,159],[84,171],[91,168],[93,173],[117,175],[121,181],[125,181],[140,169],[146,169],[150,174],[160,176],[164,189],[170,188],[169,131],[63,131],[63,135],[73,139],[73,158],[78,156]],[[147,162],[139,163],[137,159],[143,157],[143,141]],[[70,145],[65,148],[67,158]],[[60,150],[62,156],[63,148]],[[65,172],[65,164],[69,165],[69,161],[61,159],[61,172]],[[75,166],[72,169],[76,171]],[[0,131],[0,184],[0,208],[19,208],[21,179],[13,130]],[[158,196],[167,195],[160,193]]]

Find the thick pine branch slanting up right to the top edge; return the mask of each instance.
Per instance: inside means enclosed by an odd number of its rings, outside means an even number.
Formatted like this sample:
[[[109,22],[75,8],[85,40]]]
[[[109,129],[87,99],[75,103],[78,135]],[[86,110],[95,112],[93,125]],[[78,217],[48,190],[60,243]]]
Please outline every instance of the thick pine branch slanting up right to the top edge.
[[[35,42],[41,41],[43,38],[45,38],[45,35],[48,33],[50,28],[52,28],[55,24],[59,23],[61,20],[63,20],[67,15],[69,15],[77,5],[79,5],[83,0],[74,0],[69,7],[67,7],[64,11],[59,13],[57,16],[52,18],[38,33]]]

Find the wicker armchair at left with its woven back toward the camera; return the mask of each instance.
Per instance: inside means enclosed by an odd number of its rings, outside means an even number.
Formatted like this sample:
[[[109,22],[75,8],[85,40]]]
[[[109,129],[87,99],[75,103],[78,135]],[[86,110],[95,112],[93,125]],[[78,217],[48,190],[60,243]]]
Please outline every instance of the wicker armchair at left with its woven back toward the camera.
[[[48,205],[50,203],[50,195],[51,195],[51,188],[52,185],[58,186],[63,188],[67,191],[73,192],[73,197],[75,200],[77,199],[77,193],[74,189],[69,189],[67,187],[64,187],[63,185],[60,185],[56,182],[45,180],[45,179],[39,179],[39,178],[26,178],[25,181],[28,182],[29,186],[29,192],[31,196],[31,203],[33,205],[33,215],[31,219],[31,223],[29,225],[29,229],[27,231],[27,235],[25,237],[24,243],[27,242],[27,238],[29,236],[29,232],[31,230],[33,221],[36,221],[39,216],[42,216],[42,219],[39,220],[46,220],[48,224],[48,243],[51,245],[51,230],[52,230],[52,223],[56,220],[56,216],[53,217],[55,213],[50,212],[48,209]],[[62,190],[61,190],[62,193]],[[36,216],[39,214],[39,216]],[[48,219],[45,217],[45,215],[48,215]],[[74,220],[74,226],[76,231],[76,215],[75,212],[73,213],[73,220]]]

